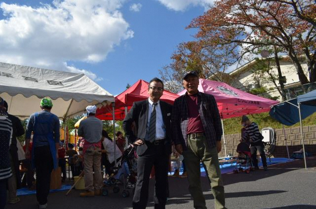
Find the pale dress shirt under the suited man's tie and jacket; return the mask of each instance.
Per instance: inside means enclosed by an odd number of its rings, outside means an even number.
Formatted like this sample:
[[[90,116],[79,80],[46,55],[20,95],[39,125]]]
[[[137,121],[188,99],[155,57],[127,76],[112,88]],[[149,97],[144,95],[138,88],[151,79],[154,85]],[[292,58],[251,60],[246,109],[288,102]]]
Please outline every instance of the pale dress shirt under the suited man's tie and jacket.
[[[146,138],[148,139],[148,131],[149,131],[149,123],[150,123],[150,116],[152,114],[153,111],[153,104],[154,102],[150,100],[150,98],[148,98],[148,102],[149,102],[149,109],[148,109],[148,120],[147,120],[147,131],[146,131]],[[163,119],[162,119],[162,112],[161,112],[161,108],[160,108],[160,104],[159,101],[155,107],[156,109],[156,140],[161,140],[161,139],[165,139],[166,138],[166,129],[164,127],[164,123],[163,123]]]

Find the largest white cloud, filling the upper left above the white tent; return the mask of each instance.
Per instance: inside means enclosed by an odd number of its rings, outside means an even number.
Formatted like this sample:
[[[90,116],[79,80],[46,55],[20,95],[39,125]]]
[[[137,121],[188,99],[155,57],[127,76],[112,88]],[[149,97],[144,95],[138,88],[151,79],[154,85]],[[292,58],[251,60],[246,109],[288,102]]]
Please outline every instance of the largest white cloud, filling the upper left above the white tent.
[[[31,7],[0,3],[0,61],[87,73],[67,61],[101,62],[133,31],[119,11],[125,0],[53,0]]]

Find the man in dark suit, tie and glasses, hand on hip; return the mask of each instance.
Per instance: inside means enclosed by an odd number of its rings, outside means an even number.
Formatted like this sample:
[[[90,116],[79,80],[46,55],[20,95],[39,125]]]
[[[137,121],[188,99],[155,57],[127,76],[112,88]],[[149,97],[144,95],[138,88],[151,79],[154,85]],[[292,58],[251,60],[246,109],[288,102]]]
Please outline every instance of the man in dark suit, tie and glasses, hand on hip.
[[[137,182],[133,197],[133,209],[145,209],[148,202],[148,185],[152,167],[155,167],[155,209],[165,209],[168,191],[168,164],[171,153],[172,106],[160,97],[163,83],[153,78],[148,86],[148,100],[134,102],[123,121],[123,129],[129,143],[137,145]],[[132,132],[132,123],[137,136]]]

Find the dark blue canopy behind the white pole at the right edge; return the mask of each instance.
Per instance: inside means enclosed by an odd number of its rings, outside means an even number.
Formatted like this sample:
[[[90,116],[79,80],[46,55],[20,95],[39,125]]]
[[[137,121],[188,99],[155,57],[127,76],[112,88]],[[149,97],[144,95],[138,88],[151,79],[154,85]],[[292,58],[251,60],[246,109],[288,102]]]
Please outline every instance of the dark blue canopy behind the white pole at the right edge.
[[[312,91],[312,92],[315,92],[315,91]],[[310,92],[310,93],[312,93],[312,92]],[[307,95],[307,94],[305,94],[305,95]],[[301,95],[301,96],[305,96],[305,95]],[[299,96],[299,97],[301,97],[301,96]],[[289,103],[291,103],[291,104],[289,104]],[[310,116],[314,112],[316,112],[316,106],[301,104],[302,120],[304,118]],[[271,117],[273,117],[274,119],[276,119],[278,122],[280,122],[283,125],[292,126],[292,125],[300,122],[297,98],[272,106],[269,114]]]

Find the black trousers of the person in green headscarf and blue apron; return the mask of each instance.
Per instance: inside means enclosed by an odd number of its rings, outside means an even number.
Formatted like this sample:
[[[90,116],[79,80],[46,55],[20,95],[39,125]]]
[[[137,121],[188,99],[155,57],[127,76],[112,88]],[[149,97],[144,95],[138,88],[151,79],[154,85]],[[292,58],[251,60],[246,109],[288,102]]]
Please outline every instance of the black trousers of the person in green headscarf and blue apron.
[[[49,146],[34,148],[36,167],[36,197],[40,205],[47,203],[50,187],[50,174],[53,170],[53,158]]]

